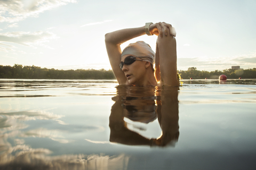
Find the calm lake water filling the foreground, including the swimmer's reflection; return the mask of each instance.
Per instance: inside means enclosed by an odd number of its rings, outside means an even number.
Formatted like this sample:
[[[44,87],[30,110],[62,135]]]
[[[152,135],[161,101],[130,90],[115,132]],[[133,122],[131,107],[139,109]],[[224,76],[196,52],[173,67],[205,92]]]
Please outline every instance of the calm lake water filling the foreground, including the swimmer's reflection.
[[[0,79],[0,169],[255,169],[256,79]]]

